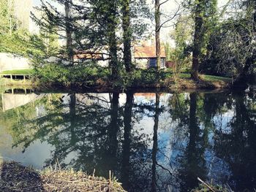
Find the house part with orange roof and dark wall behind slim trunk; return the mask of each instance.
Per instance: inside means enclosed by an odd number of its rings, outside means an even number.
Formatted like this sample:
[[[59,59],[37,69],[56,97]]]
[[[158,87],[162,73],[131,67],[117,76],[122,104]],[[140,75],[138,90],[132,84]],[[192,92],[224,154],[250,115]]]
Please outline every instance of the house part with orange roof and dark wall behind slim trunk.
[[[161,47],[161,69],[165,68],[165,47]],[[142,45],[134,47],[135,64],[138,68],[150,68],[157,66],[157,55],[155,45]]]

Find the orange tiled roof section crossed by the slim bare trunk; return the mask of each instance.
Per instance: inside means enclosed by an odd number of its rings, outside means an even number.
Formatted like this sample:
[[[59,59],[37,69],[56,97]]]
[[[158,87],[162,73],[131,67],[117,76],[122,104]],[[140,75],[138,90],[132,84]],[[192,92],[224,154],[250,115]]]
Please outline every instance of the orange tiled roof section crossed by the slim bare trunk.
[[[135,58],[156,58],[156,46],[135,46]],[[161,58],[166,58],[165,47],[161,47]]]

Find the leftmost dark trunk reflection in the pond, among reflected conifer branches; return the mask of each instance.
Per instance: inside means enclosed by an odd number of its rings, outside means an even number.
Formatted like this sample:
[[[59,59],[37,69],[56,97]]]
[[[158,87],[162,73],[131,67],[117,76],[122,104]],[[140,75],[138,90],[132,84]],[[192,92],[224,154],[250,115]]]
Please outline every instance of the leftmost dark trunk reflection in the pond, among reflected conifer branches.
[[[71,93],[70,102],[69,102],[71,145],[75,145],[75,103],[76,103],[75,93]]]

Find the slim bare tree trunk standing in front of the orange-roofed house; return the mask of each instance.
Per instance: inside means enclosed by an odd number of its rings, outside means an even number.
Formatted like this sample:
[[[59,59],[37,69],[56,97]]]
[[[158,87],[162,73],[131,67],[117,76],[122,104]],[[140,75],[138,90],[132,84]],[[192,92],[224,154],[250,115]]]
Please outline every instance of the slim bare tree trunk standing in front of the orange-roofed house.
[[[157,71],[160,69],[161,65],[161,45],[160,45],[160,0],[155,0],[155,22],[156,22],[156,55],[157,55]]]

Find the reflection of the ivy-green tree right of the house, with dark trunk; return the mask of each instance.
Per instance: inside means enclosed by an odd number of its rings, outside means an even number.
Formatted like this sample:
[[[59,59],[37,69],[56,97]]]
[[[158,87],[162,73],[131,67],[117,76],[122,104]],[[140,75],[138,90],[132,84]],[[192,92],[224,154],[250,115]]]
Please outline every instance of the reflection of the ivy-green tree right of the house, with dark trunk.
[[[170,99],[170,113],[177,123],[174,130],[176,139],[173,139],[172,145],[173,150],[178,151],[172,162],[177,167],[176,182],[181,191],[195,188],[197,177],[208,179],[206,151],[212,148],[208,139],[215,128],[214,116],[221,113],[227,104],[227,96],[223,94],[180,93]]]

